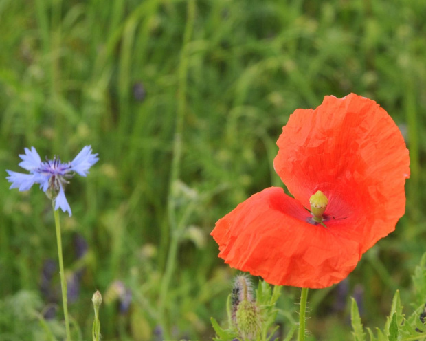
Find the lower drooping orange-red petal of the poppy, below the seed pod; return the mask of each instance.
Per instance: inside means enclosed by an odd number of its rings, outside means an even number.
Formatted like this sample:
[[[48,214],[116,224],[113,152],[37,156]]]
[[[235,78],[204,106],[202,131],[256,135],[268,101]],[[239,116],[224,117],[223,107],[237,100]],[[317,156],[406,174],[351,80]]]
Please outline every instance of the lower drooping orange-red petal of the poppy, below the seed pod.
[[[333,229],[308,223],[311,214],[284,190],[271,187],[240,203],[212,231],[225,263],[273,285],[328,287],[346,278],[361,245]]]

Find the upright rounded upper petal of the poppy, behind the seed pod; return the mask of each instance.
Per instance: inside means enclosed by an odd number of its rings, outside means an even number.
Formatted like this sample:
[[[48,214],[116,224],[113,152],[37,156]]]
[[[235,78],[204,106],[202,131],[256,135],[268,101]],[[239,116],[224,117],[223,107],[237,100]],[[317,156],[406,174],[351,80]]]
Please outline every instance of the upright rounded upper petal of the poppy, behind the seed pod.
[[[289,192],[309,207],[328,197],[330,230],[366,252],[392,232],[405,211],[410,159],[398,127],[373,100],[326,96],[317,109],[298,109],[278,139],[274,166]]]

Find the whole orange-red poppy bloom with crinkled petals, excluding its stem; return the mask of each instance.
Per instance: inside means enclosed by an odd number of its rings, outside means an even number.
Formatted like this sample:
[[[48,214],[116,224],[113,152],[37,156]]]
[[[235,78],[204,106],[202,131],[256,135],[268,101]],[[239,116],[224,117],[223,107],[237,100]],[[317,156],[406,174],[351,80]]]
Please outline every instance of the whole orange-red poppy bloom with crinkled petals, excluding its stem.
[[[273,164],[294,198],[271,187],[240,203],[212,231],[219,256],[273,285],[328,287],[404,214],[405,142],[376,102],[350,94],[296,110],[277,144]],[[315,220],[318,190],[328,205]]]

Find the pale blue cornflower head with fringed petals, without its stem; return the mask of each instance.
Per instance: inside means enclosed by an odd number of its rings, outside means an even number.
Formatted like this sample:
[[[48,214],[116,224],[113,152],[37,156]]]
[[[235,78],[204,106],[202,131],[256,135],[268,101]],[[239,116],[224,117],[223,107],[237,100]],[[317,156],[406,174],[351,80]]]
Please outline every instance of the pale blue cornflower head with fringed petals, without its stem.
[[[67,180],[74,176],[74,172],[85,177],[89,173],[89,168],[98,161],[97,156],[98,154],[92,154],[91,146],[85,146],[74,160],[63,164],[56,156],[53,160],[46,158],[46,161],[41,161],[36,148],[31,147],[31,151],[25,148],[25,154],[19,155],[22,159],[19,166],[30,171],[30,174],[6,170],[9,174],[6,179],[12,182],[10,188],[19,188],[20,191],[29,190],[32,185],[40,184],[47,197],[55,201],[55,210],[61,208],[71,217],[71,208],[65,197],[64,186],[68,184]]]

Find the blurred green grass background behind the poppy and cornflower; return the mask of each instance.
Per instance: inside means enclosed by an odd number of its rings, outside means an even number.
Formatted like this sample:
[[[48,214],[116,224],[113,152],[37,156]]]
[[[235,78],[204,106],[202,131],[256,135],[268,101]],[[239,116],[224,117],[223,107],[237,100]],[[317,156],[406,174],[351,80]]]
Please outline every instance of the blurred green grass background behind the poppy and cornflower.
[[[366,325],[381,323],[395,289],[412,294],[425,251],[425,83],[423,0],[0,0],[0,168],[19,170],[30,146],[63,161],[87,144],[99,153],[67,188],[73,216],[62,214],[82,339],[100,289],[103,340],[209,340],[236,274],[217,258],[216,220],[283,186],[272,162],[295,109],[372,98],[401,127],[412,175],[396,232],[344,285],[311,292],[310,338],[351,340],[340,301],[360,295]],[[0,331],[30,340],[43,323],[6,307],[58,305],[61,319],[57,268],[45,283],[54,221],[43,192],[8,190],[3,175]],[[299,294],[284,288],[280,307],[295,311]]]

